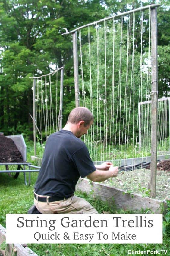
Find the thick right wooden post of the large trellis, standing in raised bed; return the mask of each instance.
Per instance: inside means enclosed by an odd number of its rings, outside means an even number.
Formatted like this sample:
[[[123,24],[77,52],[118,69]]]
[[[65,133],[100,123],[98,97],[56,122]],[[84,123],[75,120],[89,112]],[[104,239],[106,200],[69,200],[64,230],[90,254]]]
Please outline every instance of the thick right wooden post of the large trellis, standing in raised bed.
[[[156,196],[156,169],[157,169],[157,121],[158,121],[158,63],[157,63],[157,13],[151,9],[151,177],[150,197]]]

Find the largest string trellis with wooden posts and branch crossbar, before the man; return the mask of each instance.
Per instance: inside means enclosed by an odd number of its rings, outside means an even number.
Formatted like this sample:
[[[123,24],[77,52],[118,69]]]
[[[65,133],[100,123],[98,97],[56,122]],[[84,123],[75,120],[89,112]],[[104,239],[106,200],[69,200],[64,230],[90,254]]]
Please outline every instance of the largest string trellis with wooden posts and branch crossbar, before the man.
[[[84,138],[92,160],[111,160],[121,168],[130,165],[131,151],[131,165],[138,159],[142,166],[151,152],[151,197],[156,196],[157,145],[164,145],[169,133],[167,104],[164,114],[159,112],[160,120],[165,117],[164,128],[160,122],[157,127],[158,6],[141,7],[63,33],[72,34],[73,39],[76,106],[89,108],[95,118],[90,135]],[[143,110],[143,101],[150,108],[145,105]],[[169,145],[165,147],[162,151],[167,152]]]

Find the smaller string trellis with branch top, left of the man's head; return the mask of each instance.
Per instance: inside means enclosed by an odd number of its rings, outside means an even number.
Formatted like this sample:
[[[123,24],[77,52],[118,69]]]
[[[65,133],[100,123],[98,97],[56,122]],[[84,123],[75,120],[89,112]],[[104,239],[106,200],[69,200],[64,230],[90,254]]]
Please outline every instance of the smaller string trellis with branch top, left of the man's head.
[[[30,116],[33,119],[34,156],[37,136],[43,143],[44,137],[47,139],[51,133],[62,129],[63,74],[64,67],[61,67],[46,75],[30,77],[33,79],[33,117]]]

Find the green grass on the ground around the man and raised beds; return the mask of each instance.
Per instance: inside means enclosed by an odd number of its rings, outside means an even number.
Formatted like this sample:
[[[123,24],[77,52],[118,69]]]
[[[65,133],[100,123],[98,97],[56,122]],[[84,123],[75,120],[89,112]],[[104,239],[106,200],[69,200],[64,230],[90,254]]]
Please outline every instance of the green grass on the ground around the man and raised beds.
[[[29,153],[27,161],[30,161],[30,155],[33,155],[32,143],[27,145]],[[41,147],[41,146],[40,146]],[[39,151],[40,152],[40,149]],[[33,186],[36,182],[37,173],[31,174],[31,185],[24,185],[24,175],[20,173],[17,179],[13,179],[8,174],[0,174],[0,224],[5,227],[5,214],[7,213],[27,213],[33,204]],[[28,174],[27,174],[28,177]],[[93,191],[91,192],[91,194]],[[146,210],[124,211],[122,209],[112,208],[107,202],[102,202],[98,198],[92,198],[91,194],[76,192],[77,196],[85,198],[92,204],[99,213],[145,213]],[[168,204],[170,210],[170,203]],[[156,251],[167,250],[169,247],[169,226],[170,211],[164,216],[163,221],[163,244],[28,244],[39,256],[124,256],[128,250],[134,251]],[[3,248],[3,244],[0,245]],[[137,254],[141,255],[141,254]],[[153,255],[153,254],[147,254]],[[168,255],[168,253],[166,254]]]

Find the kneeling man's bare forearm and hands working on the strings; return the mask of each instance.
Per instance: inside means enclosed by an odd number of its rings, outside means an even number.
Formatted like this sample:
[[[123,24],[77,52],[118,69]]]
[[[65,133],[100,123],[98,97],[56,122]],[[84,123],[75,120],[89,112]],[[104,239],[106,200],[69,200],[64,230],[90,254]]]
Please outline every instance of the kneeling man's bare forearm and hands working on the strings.
[[[90,179],[91,181],[101,182],[107,180],[108,178],[116,177],[117,175],[118,166],[113,167],[111,165],[108,171],[96,170],[87,175],[87,178]]]

